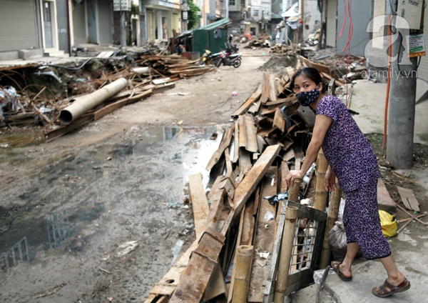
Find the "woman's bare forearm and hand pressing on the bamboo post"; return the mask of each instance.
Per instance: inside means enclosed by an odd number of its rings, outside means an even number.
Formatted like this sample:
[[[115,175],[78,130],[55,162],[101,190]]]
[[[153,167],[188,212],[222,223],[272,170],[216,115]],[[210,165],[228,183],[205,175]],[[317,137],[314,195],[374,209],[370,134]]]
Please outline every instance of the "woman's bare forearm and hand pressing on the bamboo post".
[[[288,176],[285,178],[285,182],[287,182],[288,187],[294,183],[295,179],[302,179],[312,163],[317,159],[318,152],[320,152],[322,142],[324,141],[328,128],[332,124],[332,120],[332,117],[322,114],[318,114],[315,117],[315,126],[312,131],[312,139],[307,147],[305,161],[299,171],[290,171]]]

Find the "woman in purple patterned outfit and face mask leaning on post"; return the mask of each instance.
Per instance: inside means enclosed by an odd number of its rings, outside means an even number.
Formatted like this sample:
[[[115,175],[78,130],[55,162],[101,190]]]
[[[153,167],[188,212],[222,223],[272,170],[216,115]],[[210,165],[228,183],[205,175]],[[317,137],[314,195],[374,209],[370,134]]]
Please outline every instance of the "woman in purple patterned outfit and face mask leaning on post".
[[[302,106],[316,110],[312,139],[302,168],[286,177],[290,187],[295,179],[302,179],[315,162],[322,147],[329,167],[325,174],[325,189],[335,190],[335,177],[347,200],[343,224],[347,235],[347,254],[343,262],[332,262],[332,269],[343,281],[352,280],[352,261],[361,248],[366,259],[379,259],[388,277],[372,292],[388,297],[410,288],[410,282],[399,272],[392,259],[391,249],[382,234],[377,209],[377,179],[381,177],[372,146],[365,138],[345,104],[335,96],[328,96],[320,73],[304,68],[292,76],[291,86]]]

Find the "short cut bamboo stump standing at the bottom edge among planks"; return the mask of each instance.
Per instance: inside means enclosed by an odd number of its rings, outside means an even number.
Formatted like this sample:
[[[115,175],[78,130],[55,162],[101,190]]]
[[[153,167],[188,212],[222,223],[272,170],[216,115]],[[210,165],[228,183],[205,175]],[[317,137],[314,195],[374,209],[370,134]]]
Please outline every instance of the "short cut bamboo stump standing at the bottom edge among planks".
[[[240,245],[236,249],[235,284],[233,285],[233,303],[245,303],[248,296],[248,285],[253,262],[253,246]]]

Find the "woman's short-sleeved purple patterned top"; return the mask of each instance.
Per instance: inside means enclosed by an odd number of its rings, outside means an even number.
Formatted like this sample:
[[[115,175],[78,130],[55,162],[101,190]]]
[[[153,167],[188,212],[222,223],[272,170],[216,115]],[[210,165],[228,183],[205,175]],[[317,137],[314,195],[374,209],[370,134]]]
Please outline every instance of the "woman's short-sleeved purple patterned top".
[[[322,142],[322,151],[345,194],[382,177],[372,146],[340,99],[323,97],[317,114],[333,119]]]

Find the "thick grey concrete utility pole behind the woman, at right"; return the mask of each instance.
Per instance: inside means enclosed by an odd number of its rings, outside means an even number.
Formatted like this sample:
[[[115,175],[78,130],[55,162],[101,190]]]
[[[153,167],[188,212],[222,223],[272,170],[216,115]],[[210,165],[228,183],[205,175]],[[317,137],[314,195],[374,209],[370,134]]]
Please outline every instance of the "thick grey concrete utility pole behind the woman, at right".
[[[393,22],[397,40],[392,44],[391,79],[387,120],[387,160],[394,167],[409,169],[413,164],[414,112],[416,105],[417,61],[424,56],[424,2],[417,6],[406,1],[387,1],[388,14]],[[394,8],[394,9],[393,9]],[[391,25],[389,25],[391,26]],[[396,35],[398,34],[398,35]],[[423,54],[420,54],[423,53]]]

